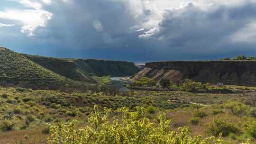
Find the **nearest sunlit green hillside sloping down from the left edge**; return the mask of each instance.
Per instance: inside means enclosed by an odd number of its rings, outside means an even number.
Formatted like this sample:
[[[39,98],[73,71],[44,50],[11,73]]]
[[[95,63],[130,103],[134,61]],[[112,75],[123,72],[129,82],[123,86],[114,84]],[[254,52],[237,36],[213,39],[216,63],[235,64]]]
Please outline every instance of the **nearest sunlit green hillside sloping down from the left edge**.
[[[1,85],[48,85],[62,83],[67,78],[28,60],[24,55],[0,47]]]

